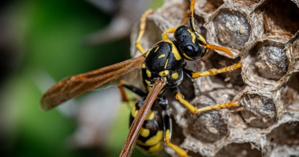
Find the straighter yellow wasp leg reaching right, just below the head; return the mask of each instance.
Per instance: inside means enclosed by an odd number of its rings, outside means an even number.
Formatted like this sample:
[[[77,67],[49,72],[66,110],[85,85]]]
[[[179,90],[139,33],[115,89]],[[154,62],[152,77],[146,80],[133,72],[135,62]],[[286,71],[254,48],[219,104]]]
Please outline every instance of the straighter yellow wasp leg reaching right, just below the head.
[[[241,68],[241,67],[242,67],[242,63],[238,62],[234,65],[230,65],[230,66],[227,66],[227,67],[224,67],[224,68],[221,68],[221,69],[213,68],[213,69],[210,69],[210,70],[207,70],[207,71],[204,71],[204,72],[194,72],[194,71],[188,70],[186,68],[183,68],[183,71],[188,76],[190,76],[192,78],[198,78],[198,77],[202,77],[202,76],[210,76],[210,75],[216,75],[216,74],[227,72],[227,71],[233,71],[233,70],[236,70],[236,69]]]

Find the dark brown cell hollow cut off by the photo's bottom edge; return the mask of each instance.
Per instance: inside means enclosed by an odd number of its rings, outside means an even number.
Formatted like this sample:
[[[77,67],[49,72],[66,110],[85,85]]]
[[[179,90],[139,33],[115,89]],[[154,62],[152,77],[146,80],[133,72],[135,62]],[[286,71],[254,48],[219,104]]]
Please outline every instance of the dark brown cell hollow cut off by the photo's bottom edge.
[[[261,151],[252,149],[250,143],[232,143],[223,147],[215,157],[259,157],[262,156]]]

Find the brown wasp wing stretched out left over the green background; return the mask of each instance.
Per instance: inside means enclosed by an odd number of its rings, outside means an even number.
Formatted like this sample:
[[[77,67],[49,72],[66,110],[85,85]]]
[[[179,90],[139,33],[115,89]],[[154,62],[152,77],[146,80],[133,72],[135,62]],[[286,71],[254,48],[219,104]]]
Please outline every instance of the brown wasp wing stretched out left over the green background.
[[[68,77],[52,86],[42,96],[40,105],[45,110],[51,109],[66,100],[78,97],[139,68],[144,60],[145,56],[142,55],[94,71]]]

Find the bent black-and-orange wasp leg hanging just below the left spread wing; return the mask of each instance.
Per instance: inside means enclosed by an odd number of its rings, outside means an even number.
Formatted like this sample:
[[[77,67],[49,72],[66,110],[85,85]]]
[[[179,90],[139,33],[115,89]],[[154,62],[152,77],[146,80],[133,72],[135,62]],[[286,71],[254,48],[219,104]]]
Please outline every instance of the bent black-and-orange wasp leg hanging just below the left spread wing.
[[[147,94],[142,89],[139,89],[135,86],[129,85],[125,80],[120,80],[118,82],[118,89],[120,90],[120,94],[121,94],[123,102],[129,102],[129,99],[126,96],[125,88],[129,89],[130,91],[132,91],[133,93],[139,95],[140,97],[147,96]]]

